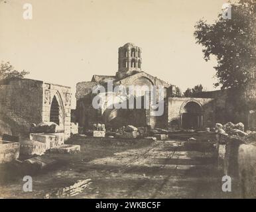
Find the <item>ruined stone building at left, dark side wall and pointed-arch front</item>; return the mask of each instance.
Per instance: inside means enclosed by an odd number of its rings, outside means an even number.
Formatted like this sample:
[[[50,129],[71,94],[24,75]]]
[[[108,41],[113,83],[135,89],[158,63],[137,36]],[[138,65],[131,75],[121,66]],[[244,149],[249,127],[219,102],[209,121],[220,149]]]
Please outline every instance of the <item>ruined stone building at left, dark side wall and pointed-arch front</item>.
[[[62,108],[66,138],[70,136],[71,89],[34,79],[11,79],[0,85],[0,119],[13,135],[29,137],[32,123],[50,121],[50,105],[56,95]]]

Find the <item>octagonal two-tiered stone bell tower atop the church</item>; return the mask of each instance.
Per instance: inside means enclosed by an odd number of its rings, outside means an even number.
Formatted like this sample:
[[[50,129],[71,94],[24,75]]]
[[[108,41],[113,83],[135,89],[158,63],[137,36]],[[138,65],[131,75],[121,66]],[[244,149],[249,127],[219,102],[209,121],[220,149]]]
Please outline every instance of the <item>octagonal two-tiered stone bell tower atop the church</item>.
[[[123,78],[134,71],[141,71],[141,48],[131,42],[118,49],[118,72],[117,77]]]

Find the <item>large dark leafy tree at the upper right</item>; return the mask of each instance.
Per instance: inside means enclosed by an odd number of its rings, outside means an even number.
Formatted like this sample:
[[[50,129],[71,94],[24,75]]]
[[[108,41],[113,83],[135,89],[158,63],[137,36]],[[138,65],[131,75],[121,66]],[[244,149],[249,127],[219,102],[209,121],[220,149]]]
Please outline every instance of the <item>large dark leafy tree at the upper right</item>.
[[[216,56],[216,76],[222,89],[241,89],[251,80],[256,68],[256,0],[239,0],[231,4],[231,19],[222,14],[210,25],[196,23],[196,43],[204,46],[204,59]]]

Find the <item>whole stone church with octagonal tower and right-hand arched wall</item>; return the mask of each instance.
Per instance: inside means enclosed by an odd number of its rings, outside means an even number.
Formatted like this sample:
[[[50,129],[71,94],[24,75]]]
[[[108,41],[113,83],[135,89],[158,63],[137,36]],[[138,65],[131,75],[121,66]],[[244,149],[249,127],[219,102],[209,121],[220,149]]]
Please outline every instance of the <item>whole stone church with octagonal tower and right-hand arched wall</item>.
[[[116,109],[102,106],[95,109],[92,101],[97,93],[93,89],[101,85],[107,89],[107,83],[113,82],[113,86],[122,85],[146,85],[163,87],[162,101],[164,113],[153,116],[153,105],[149,108],[134,107],[133,109]],[[211,98],[184,98],[175,97],[176,87],[166,81],[151,76],[143,70],[142,49],[133,43],[127,43],[118,49],[118,71],[113,76],[92,76],[91,81],[82,81],[76,85],[76,117],[80,127],[90,129],[94,123],[104,123],[107,127],[118,128],[125,125],[136,127],[159,127],[170,130],[177,129],[204,129],[213,127],[215,123],[215,101]],[[102,93],[101,93],[102,95]],[[103,94],[104,95],[104,94]],[[106,91],[105,95],[109,95]],[[112,93],[111,95],[118,95]],[[135,98],[135,105],[138,96]],[[142,94],[145,101],[145,92]],[[152,96],[150,98],[153,98]],[[122,98],[120,98],[122,99]],[[121,101],[129,101],[123,98]],[[107,102],[102,105],[108,105]],[[143,105],[143,104],[142,104]]]

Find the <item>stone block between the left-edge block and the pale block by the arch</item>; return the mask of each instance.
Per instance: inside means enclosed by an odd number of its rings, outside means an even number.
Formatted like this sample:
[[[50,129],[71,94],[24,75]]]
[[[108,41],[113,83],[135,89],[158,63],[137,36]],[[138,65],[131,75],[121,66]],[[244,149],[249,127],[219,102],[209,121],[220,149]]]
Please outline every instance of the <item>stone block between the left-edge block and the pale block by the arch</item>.
[[[36,140],[29,140],[22,138],[20,141],[21,148],[20,154],[25,155],[43,155],[46,152],[46,144],[38,142]]]

